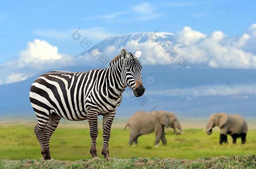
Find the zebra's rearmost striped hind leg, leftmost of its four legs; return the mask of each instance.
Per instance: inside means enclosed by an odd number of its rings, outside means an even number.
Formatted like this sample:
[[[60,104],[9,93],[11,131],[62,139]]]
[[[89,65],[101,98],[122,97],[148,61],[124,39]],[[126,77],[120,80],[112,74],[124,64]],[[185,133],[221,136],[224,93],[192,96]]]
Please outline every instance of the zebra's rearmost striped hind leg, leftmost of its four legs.
[[[50,121],[50,117],[37,116],[37,125],[34,128],[34,132],[37,136],[37,140],[39,141],[39,144],[41,146],[41,154],[43,155],[43,158],[45,160],[50,159],[50,157],[48,156],[49,150],[44,141],[44,132],[45,132],[45,128],[46,128],[47,124],[49,123],[49,121]]]

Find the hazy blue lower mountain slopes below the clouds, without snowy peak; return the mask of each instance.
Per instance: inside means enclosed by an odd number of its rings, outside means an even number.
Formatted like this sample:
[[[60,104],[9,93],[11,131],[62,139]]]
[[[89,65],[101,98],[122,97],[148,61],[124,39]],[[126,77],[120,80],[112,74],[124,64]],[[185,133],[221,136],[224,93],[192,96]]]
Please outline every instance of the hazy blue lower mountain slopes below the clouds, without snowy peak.
[[[77,71],[79,68],[67,68],[68,71]],[[84,68],[80,68],[83,69]],[[161,74],[162,76],[159,76]],[[39,75],[37,75],[39,76]],[[0,115],[1,116],[34,116],[29,103],[29,88],[37,76],[26,79],[25,81],[11,83],[0,86]],[[221,86],[253,84],[256,73],[249,70],[230,70],[230,69],[173,69],[171,66],[144,66],[143,81],[146,87],[145,96],[140,98],[128,95],[130,89],[126,89],[123,102],[118,108],[119,117],[128,117],[138,110],[150,111],[152,109],[166,109],[176,112],[183,117],[207,117],[213,112],[239,113],[245,116],[256,115],[256,96],[234,95],[227,96],[198,96],[193,97],[179,94],[179,90],[185,88],[196,88],[197,86]],[[154,83],[148,84],[146,79],[154,78]],[[165,77],[165,78],[163,78]],[[241,82],[243,79],[243,82]],[[157,86],[167,88],[174,86],[173,95],[157,92]],[[155,92],[155,93],[154,93]],[[239,95],[240,96],[240,95]],[[146,103],[140,103],[146,98]]]

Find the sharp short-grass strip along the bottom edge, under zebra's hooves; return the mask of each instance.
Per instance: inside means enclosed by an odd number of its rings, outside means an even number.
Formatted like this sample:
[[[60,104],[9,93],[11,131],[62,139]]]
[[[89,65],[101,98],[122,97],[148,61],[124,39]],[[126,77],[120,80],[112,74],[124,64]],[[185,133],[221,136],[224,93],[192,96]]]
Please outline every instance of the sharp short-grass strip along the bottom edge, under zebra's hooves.
[[[209,157],[196,160],[158,159],[158,158],[110,158],[105,159],[84,159],[77,161],[60,160],[0,160],[0,168],[8,169],[255,169],[256,156],[243,155],[232,157]]]

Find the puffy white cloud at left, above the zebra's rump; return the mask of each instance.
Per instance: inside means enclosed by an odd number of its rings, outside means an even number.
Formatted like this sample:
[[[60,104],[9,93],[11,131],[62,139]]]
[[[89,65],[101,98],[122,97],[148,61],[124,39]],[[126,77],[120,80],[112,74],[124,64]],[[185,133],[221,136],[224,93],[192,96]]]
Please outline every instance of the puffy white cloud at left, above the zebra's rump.
[[[56,46],[44,40],[35,39],[28,42],[27,48],[19,53],[16,60],[1,65],[1,84],[23,81],[26,78],[63,66],[77,64],[76,59],[58,53]]]

